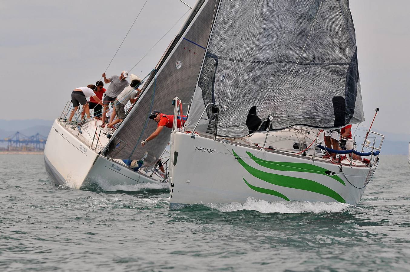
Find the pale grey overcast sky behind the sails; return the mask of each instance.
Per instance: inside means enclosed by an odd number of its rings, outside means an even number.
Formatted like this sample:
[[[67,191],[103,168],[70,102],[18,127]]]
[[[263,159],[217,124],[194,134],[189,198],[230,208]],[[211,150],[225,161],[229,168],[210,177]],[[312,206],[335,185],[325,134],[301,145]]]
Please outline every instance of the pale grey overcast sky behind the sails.
[[[0,119],[58,117],[74,88],[100,79],[144,2],[1,0]],[[410,1],[351,0],[350,8],[364,124],[378,107],[375,128],[410,135]],[[107,76],[130,70],[188,9],[178,0],[148,0]],[[132,73],[144,77],[155,67],[184,19]]]

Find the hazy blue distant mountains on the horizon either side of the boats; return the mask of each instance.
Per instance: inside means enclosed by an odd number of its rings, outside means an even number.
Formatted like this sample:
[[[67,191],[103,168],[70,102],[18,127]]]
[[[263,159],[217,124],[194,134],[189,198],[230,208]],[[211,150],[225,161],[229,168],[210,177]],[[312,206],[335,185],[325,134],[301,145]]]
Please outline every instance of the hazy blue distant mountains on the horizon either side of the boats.
[[[0,119],[0,139],[14,135],[17,131],[25,136],[39,133],[44,137],[48,136],[54,120],[1,120]],[[380,131],[385,135],[385,141],[382,146],[381,154],[388,155],[406,155],[408,153],[408,144],[410,134],[389,133]]]

